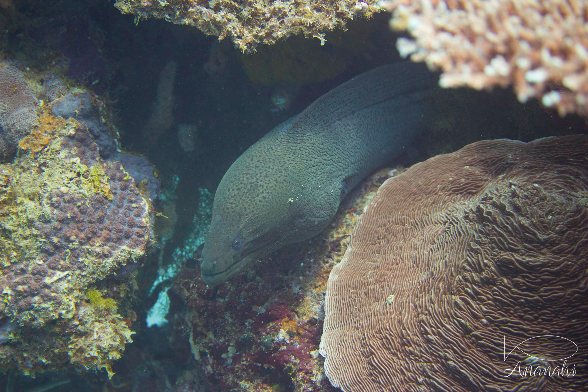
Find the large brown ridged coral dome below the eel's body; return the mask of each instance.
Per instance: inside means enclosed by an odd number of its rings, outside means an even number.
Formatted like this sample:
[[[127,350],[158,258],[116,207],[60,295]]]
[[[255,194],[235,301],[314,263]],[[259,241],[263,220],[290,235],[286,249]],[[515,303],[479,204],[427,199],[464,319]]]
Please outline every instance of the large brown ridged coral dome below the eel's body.
[[[333,386],[584,388],[587,152],[586,136],[484,140],[386,180],[329,276]]]

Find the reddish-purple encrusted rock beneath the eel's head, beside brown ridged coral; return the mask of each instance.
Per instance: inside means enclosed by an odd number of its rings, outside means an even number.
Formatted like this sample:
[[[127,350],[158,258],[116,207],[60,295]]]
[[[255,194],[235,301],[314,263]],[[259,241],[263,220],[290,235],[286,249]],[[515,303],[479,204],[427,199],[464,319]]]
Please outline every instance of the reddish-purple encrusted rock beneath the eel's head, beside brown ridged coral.
[[[199,279],[196,260],[183,264],[173,292],[188,309],[169,317],[171,344],[178,352],[191,350],[209,390],[335,391],[318,354],[326,282],[388,173],[380,170],[352,190],[332,225],[314,239],[268,254],[219,286]]]

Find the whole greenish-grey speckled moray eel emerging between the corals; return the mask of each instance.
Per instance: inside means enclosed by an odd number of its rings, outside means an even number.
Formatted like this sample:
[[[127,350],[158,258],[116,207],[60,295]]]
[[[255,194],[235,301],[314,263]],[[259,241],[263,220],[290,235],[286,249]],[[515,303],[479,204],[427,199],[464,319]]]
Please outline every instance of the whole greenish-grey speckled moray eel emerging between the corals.
[[[418,135],[436,75],[403,62],[321,96],[241,155],[216,190],[202,278],[226,282],[264,254],[321,232],[350,189]]]

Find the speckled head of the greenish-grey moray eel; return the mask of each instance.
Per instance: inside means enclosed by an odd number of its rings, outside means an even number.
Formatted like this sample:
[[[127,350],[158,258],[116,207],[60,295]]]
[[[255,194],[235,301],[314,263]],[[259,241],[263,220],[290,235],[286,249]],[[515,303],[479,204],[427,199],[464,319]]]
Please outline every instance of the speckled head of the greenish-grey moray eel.
[[[279,197],[286,192],[283,185],[272,183],[275,167],[262,167],[253,155],[248,150],[240,156],[216,190],[201,263],[202,279],[209,286],[226,282],[264,254],[295,242],[292,208]]]

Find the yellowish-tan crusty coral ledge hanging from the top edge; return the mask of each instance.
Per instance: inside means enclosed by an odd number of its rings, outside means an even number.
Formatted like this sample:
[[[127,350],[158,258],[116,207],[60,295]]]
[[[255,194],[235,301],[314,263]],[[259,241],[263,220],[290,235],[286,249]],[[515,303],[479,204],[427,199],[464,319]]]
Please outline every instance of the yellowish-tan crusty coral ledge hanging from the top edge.
[[[194,0],[118,0],[123,14],[141,18],[160,18],[180,25],[191,25],[219,39],[227,36],[243,52],[255,51],[260,43],[271,45],[292,34],[319,38],[326,31],[345,28],[356,16],[369,17],[381,11],[375,0],[313,1],[218,1]]]

